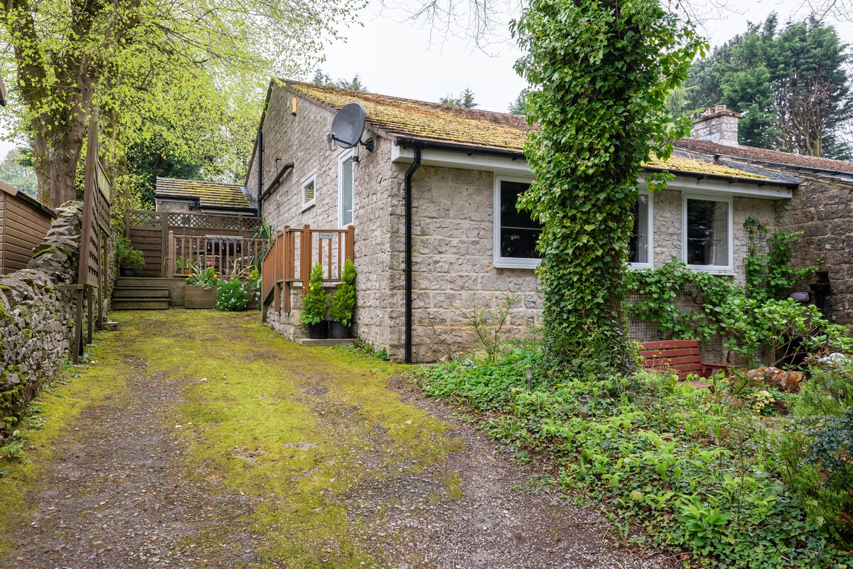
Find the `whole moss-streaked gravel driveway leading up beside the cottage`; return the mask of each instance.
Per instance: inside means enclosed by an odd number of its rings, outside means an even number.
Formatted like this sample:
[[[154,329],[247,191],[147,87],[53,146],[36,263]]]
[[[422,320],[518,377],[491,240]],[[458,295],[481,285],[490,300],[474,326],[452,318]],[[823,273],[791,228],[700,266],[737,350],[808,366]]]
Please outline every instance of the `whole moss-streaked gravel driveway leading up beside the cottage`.
[[[396,379],[257,314],[119,313],[3,567],[669,567]],[[86,372],[76,380],[85,380]],[[61,389],[61,388],[60,388]]]

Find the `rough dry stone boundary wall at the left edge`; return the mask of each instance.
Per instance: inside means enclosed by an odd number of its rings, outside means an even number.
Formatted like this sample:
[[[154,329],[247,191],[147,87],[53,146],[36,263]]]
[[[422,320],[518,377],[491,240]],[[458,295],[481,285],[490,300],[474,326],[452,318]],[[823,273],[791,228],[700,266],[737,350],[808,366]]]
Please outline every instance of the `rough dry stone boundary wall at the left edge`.
[[[27,268],[0,276],[0,436],[9,433],[33,395],[59,373],[73,344],[82,206],[69,203]]]

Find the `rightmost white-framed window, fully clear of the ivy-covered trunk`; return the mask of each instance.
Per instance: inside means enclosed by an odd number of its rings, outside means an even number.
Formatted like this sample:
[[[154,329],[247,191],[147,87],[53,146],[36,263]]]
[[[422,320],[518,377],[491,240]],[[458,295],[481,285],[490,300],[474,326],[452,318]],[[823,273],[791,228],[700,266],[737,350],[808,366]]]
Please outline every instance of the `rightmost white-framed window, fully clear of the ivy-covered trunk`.
[[[691,269],[731,272],[732,200],[684,195],[683,258]]]

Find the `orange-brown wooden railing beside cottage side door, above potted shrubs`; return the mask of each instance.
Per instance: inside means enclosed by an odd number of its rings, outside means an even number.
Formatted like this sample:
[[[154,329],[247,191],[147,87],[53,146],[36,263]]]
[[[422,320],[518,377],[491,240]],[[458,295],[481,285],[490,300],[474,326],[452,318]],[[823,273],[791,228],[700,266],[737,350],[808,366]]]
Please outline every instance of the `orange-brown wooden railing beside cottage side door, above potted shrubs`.
[[[323,282],[337,283],[345,259],[355,258],[355,229],[311,229],[286,227],[276,234],[261,267],[262,317],[270,304],[273,311],[290,311],[290,291],[299,283],[308,291],[311,265],[320,263]],[[271,299],[270,299],[271,297]]]

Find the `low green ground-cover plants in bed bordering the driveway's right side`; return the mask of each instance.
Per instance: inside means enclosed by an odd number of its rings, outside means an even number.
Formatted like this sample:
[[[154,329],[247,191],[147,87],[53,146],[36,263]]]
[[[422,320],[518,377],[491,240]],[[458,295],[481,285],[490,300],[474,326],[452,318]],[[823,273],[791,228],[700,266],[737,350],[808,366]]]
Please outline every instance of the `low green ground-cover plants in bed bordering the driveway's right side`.
[[[543,357],[516,349],[494,363],[417,369],[414,380],[479,413],[482,428],[516,453],[556,465],[563,489],[601,502],[635,541],[688,551],[690,566],[829,569],[853,561],[775,477],[769,423],[739,403],[743,386],[560,373],[537,375],[527,389],[522,369],[542,369]]]

